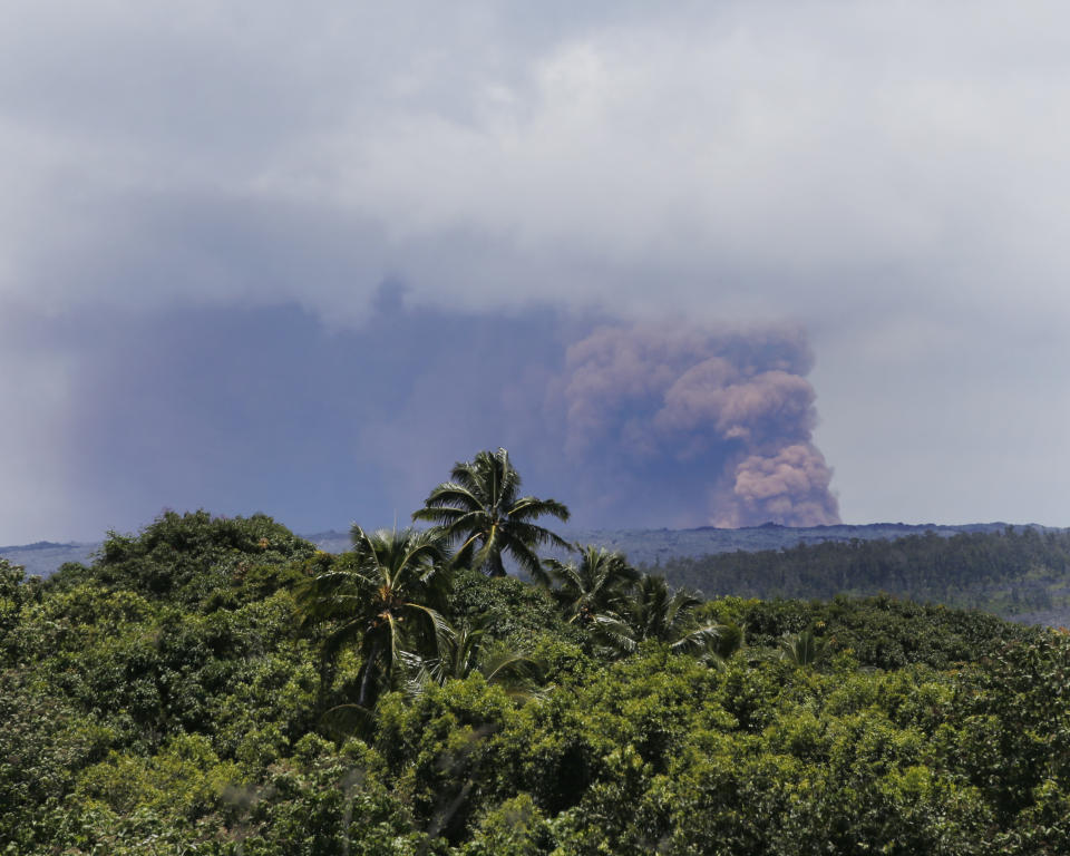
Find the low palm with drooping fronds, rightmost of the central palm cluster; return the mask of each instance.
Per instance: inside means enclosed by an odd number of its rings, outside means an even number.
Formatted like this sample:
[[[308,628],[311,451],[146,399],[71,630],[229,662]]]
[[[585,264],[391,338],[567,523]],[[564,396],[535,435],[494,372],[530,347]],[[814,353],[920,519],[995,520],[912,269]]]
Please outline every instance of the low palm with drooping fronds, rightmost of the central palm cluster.
[[[690,653],[721,664],[742,642],[732,624],[696,624],[692,613],[701,599],[683,588],[672,591],[664,578],[644,574],[619,614],[599,619],[597,631],[610,651],[631,653],[639,643],[655,639],[675,653]]]

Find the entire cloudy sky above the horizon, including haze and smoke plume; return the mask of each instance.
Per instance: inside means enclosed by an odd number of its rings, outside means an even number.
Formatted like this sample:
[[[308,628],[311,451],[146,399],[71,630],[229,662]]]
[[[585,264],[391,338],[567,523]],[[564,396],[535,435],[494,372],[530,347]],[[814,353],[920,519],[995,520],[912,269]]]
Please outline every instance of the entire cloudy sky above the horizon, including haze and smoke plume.
[[[0,4],[0,544],[1070,525],[1070,9]]]

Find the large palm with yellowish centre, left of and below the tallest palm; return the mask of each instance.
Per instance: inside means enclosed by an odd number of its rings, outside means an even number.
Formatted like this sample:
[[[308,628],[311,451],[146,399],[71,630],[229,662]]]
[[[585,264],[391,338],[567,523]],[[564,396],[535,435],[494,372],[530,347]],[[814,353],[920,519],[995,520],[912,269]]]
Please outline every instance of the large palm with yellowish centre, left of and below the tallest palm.
[[[434,532],[379,529],[353,524],[353,549],[296,592],[304,620],[333,621],[324,659],[356,642],[363,660],[357,704],[367,709],[406,651],[437,654],[449,635],[439,610],[449,588],[441,544]]]

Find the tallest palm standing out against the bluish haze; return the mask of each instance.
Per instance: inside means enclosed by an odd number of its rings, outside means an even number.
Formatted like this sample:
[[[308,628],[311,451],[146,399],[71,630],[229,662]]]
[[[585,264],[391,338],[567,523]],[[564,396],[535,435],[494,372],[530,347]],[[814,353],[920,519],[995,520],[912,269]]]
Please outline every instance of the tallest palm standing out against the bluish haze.
[[[449,543],[461,542],[456,564],[505,576],[503,555],[507,553],[535,575],[537,547],[568,547],[566,541],[533,523],[546,515],[567,521],[568,508],[555,499],[518,496],[521,476],[505,449],[480,451],[473,460],[456,464],[450,475],[453,480],[431,490],[412,519],[436,524]]]

